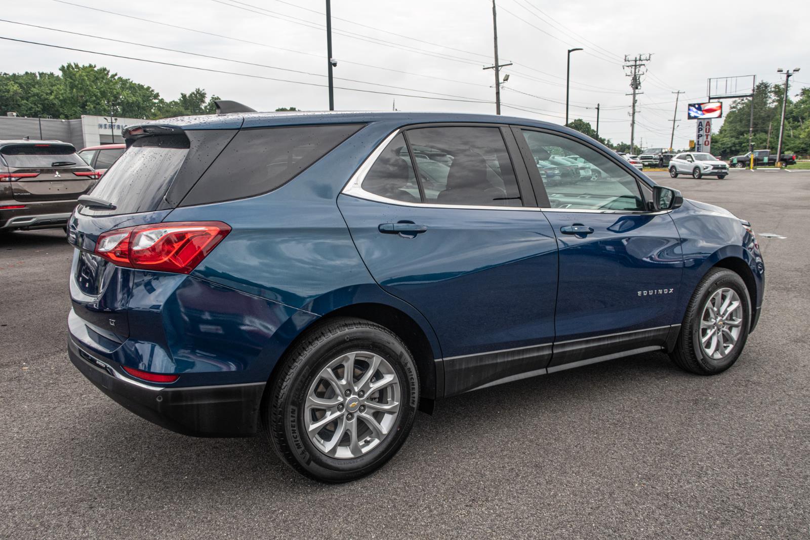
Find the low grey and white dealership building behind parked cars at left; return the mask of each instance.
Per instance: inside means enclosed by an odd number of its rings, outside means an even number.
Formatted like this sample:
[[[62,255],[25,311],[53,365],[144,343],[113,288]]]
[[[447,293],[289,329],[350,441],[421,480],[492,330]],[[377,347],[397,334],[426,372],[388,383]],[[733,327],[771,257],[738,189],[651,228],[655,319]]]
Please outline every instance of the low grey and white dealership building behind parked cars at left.
[[[11,113],[10,113],[11,114]],[[121,132],[126,126],[134,126],[144,118],[110,118],[83,114],[82,118],[61,120],[59,118],[0,117],[0,139],[46,139],[61,140],[73,144],[76,149],[98,144],[123,143]]]

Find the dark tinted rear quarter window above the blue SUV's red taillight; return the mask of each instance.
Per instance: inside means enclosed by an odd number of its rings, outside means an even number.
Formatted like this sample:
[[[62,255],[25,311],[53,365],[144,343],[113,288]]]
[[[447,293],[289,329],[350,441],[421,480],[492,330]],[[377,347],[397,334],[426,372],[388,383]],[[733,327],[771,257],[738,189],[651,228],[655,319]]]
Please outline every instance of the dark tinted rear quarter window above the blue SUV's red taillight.
[[[240,131],[181,204],[242,199],[275,190],[360,127],[351,124]]]

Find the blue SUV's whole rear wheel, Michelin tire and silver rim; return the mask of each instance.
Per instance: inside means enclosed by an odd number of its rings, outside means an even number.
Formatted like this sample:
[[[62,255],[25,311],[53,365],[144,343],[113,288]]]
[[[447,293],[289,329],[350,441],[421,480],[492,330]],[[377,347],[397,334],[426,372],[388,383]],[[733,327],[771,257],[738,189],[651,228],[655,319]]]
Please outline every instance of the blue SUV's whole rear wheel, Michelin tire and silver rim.
[[[271,382],[262,418],[293,469],[348,482],[385,465],[405,442],[419,403],[419,375],[394,332],[340,318],[310,330]]]

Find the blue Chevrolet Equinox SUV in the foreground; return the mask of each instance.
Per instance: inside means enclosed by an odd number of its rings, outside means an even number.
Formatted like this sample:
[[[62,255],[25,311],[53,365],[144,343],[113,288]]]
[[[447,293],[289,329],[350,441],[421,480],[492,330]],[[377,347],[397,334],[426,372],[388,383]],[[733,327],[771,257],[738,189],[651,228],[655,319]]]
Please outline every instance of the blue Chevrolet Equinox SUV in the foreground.
[[[69,221],[71,362],[322,481],[383,465],[441,397],[653,351],[716,374],[757,324],[750,224],[565,127],[233,113],[124,135]]]

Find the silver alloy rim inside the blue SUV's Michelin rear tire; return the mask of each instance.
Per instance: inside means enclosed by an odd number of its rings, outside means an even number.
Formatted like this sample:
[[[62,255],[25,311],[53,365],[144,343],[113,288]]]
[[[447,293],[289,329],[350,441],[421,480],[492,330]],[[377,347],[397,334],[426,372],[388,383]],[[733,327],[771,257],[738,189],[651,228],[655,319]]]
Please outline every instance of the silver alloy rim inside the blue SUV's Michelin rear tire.
[[[309,385],[304,410],[309,440],[326,456],[363,456],[390,434],[401,396],[399,377],[385,358],[368,351],[343,354]]]

